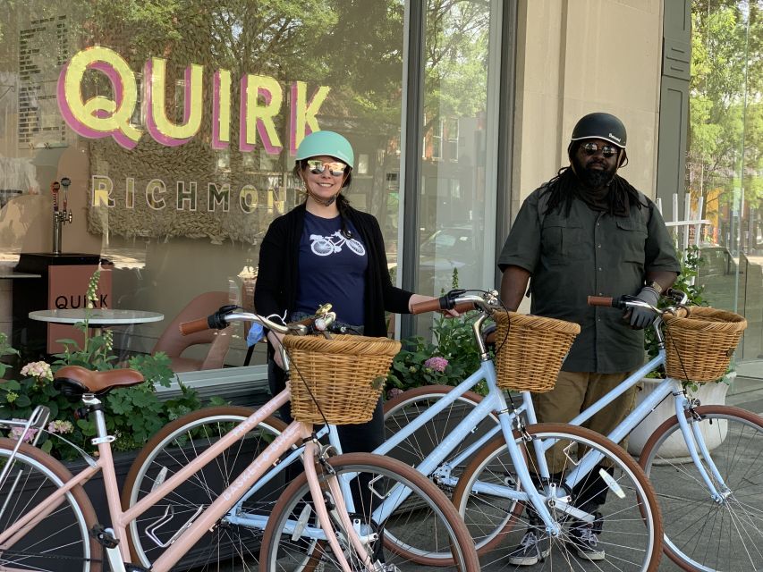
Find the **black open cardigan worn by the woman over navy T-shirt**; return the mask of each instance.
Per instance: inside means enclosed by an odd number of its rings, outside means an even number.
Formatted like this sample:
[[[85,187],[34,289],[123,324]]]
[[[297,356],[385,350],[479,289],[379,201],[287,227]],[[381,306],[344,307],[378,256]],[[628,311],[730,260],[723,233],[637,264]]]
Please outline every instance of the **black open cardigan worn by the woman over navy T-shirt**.
[[[385,310],[408,314],[411,292],[393,286],[386,265],[384,237],[376,217],[348,208],[347,218],[360,233],[369,255],[366,270],[364,333],[386,336]],[[259,266],[254,288],[254,307],[260,315],[284,315],[294,311],[299,284],[300,240],[304,229],[305,205],[276,218],[259,247]],[[330,302],[331,300],[326,300]]]

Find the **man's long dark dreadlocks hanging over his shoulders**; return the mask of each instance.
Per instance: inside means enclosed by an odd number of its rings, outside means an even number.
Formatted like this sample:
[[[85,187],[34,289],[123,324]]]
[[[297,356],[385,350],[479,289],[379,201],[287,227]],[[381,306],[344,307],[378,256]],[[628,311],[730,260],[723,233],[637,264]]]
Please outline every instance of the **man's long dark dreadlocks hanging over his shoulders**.
[[[571,167],[559,169],[553,179],[541,185],[541,188],[544,189],[541,195],[548,194],[548,204],[544,214],[551,214],[556,209],[561,211],[564,205],[564,216],[569,216],[572,199],[579,195],[580,186],[581,181]],[[606,212],[611,216],[615,216],[616,213],[628,212],[632,206],[638,208],[647,206],[641,203],[639,191],[634,189],[632,184],[625,181],[623,177],[616,174],[609,183],[606,200],[608,202]]]

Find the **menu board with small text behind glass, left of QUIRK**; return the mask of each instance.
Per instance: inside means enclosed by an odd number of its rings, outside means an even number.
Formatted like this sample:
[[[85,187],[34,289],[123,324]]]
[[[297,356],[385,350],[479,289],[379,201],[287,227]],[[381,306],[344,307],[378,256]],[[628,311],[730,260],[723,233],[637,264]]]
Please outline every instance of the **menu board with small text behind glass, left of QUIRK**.
[[[69,57],[65,15],[31,20],[19,29],[19,148],[61,147],[66,122],[58,113],[58,72]]]

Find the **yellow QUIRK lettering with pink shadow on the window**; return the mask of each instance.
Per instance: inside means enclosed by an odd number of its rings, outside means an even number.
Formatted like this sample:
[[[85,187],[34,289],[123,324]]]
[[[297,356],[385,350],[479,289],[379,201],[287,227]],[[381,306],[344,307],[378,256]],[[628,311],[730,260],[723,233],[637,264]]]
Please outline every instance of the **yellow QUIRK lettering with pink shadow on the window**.
[[[99,71],[111,81],[113,99],[96,96],[85,101],[82,98],[81,86],[89,70]],[[204,66],[196,63],[191,63],[185,69],[182,121],[174,122],[166,114],[166,60],[152,57],[145,63],[145,130],[157,143],[167,147],[180,146],[199,132],[204,113],[202,90],[205,72]],[[268,154],[278,155],[284,145],[278,136],[275,119],[284,102],[283,88],[274,78],[263,75],[248,73],[240,81],[239,149],[245,152],[253,150],[259,137]],[[214,71],[212,84],[211,145],[216,149],[224,149],[231,143],[231,71]],[[112,137],[122,147],[131,149],[145,132],[130,122],[138,105],[138,89],[135,74],[121,55],[107,47],[93,46],[78,52],[62,68],[57,86],[58,106],[65,122],[82,137]],[[327,86],[318,87],[308,101],[307,84],[303,81],[292,83],[288,141],[292,154],[306,134],[319,130],[316,114],[326,100],[329,89]]]

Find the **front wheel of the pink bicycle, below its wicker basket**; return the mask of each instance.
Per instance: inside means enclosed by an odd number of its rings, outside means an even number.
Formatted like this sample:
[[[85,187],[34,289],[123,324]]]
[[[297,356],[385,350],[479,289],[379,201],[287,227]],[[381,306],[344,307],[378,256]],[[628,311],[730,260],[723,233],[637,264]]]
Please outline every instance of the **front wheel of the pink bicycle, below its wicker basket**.
[[[398,550],[397,543],[411,543],[426,545],[436,553],[448,551],[455,566],[441,569],[479,570],[469,531],[453,504],[426,477],[393,458],[369,453],[340,455],[328,463],[335,475],[319,472],[321,489],[326,491],[328,480],[337,479],[352,491],[355,510],[349,518],[353,530],[343,528],[331,503],[329,516],[353,570],[371,568],[365,568],[352,535],[377,562],[372,569],[407,569],[410,559]],[[286,489],[267,523],[261,570],[341,569],[312,507],[307,477],[301,475]],[[396,543],[388,542],[388,534],[394,535]]]

